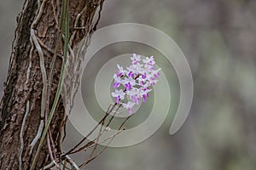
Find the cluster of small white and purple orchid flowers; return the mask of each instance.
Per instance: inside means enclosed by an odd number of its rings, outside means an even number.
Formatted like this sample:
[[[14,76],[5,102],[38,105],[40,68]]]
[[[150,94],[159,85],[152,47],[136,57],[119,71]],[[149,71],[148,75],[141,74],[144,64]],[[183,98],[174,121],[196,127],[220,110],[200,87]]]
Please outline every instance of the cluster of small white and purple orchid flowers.
[[[149,96],[152,90],[150,87],[158,82],[157,77],[160,76],[160,69],[154,70],[154,56],[143,58],[140,55],[133,54],[131,57],[131,65],[126,70],[117,65],[118,70],[113,74],[114,92],[111,95],[115,98],[117,104],[123,105],[132,114],[132,107],[139,105]],[[127,103],[124,99],[128,99]]]

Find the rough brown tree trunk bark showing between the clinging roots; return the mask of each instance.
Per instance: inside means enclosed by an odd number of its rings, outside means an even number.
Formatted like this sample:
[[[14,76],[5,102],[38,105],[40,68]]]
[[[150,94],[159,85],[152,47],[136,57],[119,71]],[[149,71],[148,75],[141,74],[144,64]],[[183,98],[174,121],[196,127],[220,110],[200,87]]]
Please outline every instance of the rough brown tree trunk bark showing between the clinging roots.
[[[38,13],[40,13],[38,9],[43,3],[42,16],[38,17]],[[72,0],[69,2],[69,32],[70,35],[75,32],[73,41],[70,43],[71,48],[75,47],[89,31],[96,29],[98,20],[95,22],[93,18],[97,14],[96,9],[99,6],[102,8],[102,3],[103,0]],[[35,155],[38,142],[33,149],[30,144],[38,133],[38,127],[42,119],[40,111],[43,89],[38,50],[32,47],[31,27],[32,22],[38,17],[34,30],[44,52],[44,65],[47,77],[49,77],[49,67],[53,58],[52,52],[57,42],[58,25],[56,23],[60,19],[60,10],[58,10],[60,8],[61,0],[26,0],[21,13],[17,17],[13,52],[0,105],[0,169],[19,169],[20,154],[22,154],[22,169],[31,167],[32,157]],[[78,15],[80,15],[79,18]],[[76,27],[79,27],[79,29],[74,27],[76,19],[78,19]],[[61,63],[61,58],[57,57],[49,106],[52,105],[55,96]],[[64,108],[61,99],[50,126],[54,140],[59,135],[58,128],[64,116]],[[24,124],[23,130],[20,130],[22,123]],[[20,138],[23,139],[23,147]],[[36,169],[49,163],[48,152],[44,140]]]

